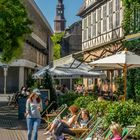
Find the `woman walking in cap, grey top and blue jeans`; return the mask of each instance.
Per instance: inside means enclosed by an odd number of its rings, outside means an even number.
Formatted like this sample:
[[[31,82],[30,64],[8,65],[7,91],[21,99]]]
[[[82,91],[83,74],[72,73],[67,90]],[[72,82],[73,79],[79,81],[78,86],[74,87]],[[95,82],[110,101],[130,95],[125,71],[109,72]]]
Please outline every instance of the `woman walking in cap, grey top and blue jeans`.
[[[38,89],[33,90],[32,94],[29,96],[26,102],[26,121],[28,129],[28,140],[31,140],[32,131],[34,130],[33,140],[38,138],[38,127],[41,123],[42,111],[42,100],[39,97],[40,91]]]

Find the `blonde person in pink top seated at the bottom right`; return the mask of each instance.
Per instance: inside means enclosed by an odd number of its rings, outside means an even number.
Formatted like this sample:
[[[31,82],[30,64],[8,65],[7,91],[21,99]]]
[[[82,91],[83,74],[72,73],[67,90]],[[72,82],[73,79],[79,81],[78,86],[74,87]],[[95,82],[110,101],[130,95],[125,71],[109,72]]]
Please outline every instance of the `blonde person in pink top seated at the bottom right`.
[[[110,126],[110,130],[113,133],[113,138],[111,140],[121,140],[122,128],[119,124],[113,123]]]

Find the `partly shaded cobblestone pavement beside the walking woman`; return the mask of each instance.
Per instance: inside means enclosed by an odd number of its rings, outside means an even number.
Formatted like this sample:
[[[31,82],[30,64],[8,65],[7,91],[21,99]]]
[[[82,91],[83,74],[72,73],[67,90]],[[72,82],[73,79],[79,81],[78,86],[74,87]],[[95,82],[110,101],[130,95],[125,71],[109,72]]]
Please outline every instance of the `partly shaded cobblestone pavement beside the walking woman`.
[[[4,100],[2,100],[4,98]],[[45,140],[44,129],[39,129],[39,139]],[[0,140],[27,140],[26,121],[18,120],[18,110],[8,106],[0,96]]]

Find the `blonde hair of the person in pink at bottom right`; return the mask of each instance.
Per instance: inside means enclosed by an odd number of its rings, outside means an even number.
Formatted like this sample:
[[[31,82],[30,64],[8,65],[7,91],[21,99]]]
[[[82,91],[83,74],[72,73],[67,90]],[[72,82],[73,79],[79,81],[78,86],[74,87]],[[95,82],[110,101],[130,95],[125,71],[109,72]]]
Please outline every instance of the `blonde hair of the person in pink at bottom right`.
[[[110,126],[112,132],[117,132],[119,135],[122,134],[122,128],[118,123],[113,122]]]

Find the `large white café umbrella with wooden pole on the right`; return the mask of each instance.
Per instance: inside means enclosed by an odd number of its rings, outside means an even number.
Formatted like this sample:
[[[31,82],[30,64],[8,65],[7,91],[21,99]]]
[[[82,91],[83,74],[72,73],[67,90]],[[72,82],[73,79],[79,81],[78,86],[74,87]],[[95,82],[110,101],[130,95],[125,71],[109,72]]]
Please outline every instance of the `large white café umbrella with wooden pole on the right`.
[[[114,55],[89,63],[91,66],[101,68],[123,69],[124,72],[124,99],[126,99],[126,75],[127,69],[140,67],[140,56],[126,49]]]

